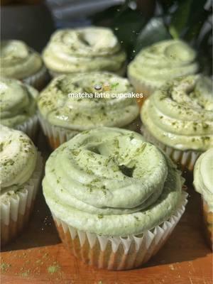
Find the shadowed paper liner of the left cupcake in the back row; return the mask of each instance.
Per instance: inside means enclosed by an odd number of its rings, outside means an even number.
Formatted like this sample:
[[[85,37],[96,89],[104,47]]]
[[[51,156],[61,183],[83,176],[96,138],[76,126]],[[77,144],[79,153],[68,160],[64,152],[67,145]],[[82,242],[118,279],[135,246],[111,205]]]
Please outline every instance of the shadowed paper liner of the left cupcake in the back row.
[[[48,74],[48,70],[45,65],[43,65],[43,67],[41,67],[37,73],[23,79],[22,81],[26,84],[30,84],[35,89],[41,90],[48,83],[49,79],[50,77]]]

